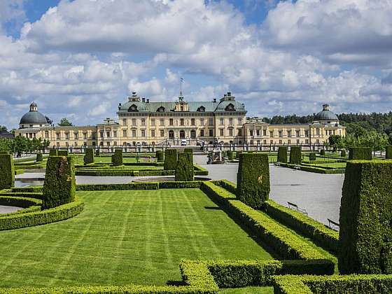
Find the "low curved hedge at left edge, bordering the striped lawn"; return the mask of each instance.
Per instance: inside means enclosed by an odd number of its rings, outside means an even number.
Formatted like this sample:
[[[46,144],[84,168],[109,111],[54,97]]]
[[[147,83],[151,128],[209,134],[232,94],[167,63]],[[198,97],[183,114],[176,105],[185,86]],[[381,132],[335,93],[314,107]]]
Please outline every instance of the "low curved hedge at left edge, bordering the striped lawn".
[[[33,227],[34,225],[43,225],[45,223],[55,223],[72,218],[80,214],[81,211],[83,211],[83,202],[76,197],[73,202],[51,209],[0,217],[0,230],[13,230]]]

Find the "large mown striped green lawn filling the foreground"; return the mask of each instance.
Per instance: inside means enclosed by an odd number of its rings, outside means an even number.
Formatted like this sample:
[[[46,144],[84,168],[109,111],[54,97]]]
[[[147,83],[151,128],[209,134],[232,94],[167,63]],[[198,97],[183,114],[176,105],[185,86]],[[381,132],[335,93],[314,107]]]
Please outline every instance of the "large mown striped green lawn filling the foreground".
[[[79,193],[67,221],[0,232],[1,286],[164,285],[186,259],[272,259],[198,189]]]

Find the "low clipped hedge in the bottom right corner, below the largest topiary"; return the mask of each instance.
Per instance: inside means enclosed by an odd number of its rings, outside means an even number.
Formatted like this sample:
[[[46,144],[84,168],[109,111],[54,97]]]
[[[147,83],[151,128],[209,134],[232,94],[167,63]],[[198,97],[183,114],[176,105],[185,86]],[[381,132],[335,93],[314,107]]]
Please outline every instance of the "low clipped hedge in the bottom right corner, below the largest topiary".
[[[286,275],[272,279],[275,294],[389,294],[392,288],[392,275],[385,274]]]

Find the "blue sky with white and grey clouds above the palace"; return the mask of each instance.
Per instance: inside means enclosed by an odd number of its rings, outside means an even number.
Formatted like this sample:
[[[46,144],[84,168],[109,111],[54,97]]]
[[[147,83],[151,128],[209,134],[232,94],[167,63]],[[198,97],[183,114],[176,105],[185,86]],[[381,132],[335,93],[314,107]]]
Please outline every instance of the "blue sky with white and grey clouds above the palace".
[[[116,118],[137,91],[232,92],[248,116],[391,111],[387,0],[2,0],[0,125],[29,103],[55,122]]]

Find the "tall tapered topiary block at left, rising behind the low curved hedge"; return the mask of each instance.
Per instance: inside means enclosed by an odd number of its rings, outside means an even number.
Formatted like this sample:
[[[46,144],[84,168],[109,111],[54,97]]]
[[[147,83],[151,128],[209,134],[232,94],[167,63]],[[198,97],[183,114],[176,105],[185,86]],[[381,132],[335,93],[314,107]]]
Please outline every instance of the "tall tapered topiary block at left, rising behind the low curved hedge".
[[[73,202],[75,198],[75,167],[72,156],[50,156],[43,182],[43,208],[50,209]]]

